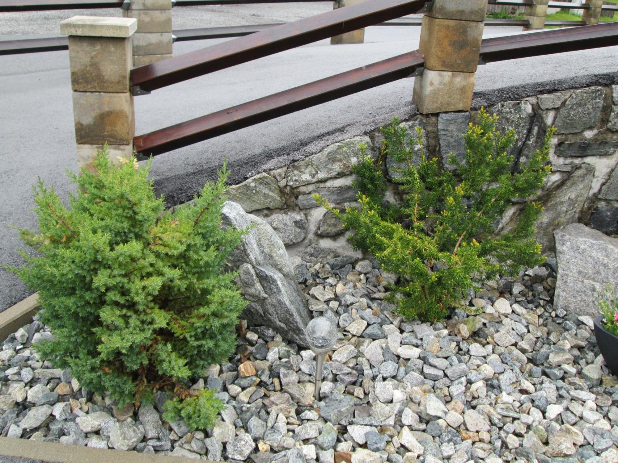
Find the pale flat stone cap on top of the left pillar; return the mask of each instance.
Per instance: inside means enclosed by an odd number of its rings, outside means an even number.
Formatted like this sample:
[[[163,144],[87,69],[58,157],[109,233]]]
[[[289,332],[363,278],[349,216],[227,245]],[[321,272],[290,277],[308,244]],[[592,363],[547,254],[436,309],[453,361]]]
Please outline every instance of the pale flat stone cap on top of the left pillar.
[[[127,38],[137,30],[137,19],[74,16],[60,23],[62,35]]]

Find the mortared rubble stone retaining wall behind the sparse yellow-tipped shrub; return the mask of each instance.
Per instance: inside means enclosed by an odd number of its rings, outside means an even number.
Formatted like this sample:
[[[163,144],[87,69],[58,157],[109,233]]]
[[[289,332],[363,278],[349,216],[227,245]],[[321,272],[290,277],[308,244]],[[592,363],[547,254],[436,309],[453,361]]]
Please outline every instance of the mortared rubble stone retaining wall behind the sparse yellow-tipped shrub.
[[[537,227],[546,254],[554,252],[553,231],[569,223],[586,223],[610,236],[617,233],[618,85],[498,102],[488,110],[499,116],[499,130],[515,129],[517,140],[510,149],[514,167],[540,148],[548,127],[557,128],[551,151],[553,172],[537,198],[546,206]],[[463,155],[461,134],[477,115],[478,111],[415,115],[403,123],[411,133],[415,127],[422,128],[425,152],[438,157],[445,169],[451,169],[449,152]],[[322,248],[334,254],[352,254],[341,222],[318,207],[311,194],[320,193],[340,207],[354,204],[351,168],[357,162],[358,145],[366,144],[367,152],[376,156],[382,140],[376,128],[332,144],[302,161],[259,173],[232,186],[231,200],[266,220],[292,256],[302,254],[306,262],[318,261],[326,252]],[[397,200],[396,185],[391,183],[397,165],[388,158],[384,164],[389,199]],[[514,204],[507,212],[502,230],[509,228],[520,207]]]

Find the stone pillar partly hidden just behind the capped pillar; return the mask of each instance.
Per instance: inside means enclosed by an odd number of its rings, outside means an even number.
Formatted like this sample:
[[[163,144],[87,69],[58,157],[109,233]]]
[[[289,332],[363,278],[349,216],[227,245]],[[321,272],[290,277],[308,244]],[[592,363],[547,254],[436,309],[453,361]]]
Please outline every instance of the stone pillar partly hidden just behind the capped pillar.
[[[131,0],[125,18],[137,19],[133,65],[143,66],[172,56],[172,0]]]

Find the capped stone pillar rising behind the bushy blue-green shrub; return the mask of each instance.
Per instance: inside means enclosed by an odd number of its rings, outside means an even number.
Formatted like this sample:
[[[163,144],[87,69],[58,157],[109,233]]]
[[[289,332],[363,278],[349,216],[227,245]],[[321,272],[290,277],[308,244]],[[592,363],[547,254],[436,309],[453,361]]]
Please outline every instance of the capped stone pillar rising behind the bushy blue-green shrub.
[[[71,88],[77,165],[93,169],[96,151],[109,145],[109,155],[133,154],[135,115],[130,92],[131,18],[74,16],[60,23],[69,36]]]

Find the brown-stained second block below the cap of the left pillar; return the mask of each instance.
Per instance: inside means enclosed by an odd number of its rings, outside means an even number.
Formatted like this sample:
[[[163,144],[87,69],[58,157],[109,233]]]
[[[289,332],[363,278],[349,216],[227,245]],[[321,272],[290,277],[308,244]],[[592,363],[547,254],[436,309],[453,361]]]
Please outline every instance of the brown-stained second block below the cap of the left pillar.
[[[74,92],[77,144],[131,144],[135,135],[130,93]]]

